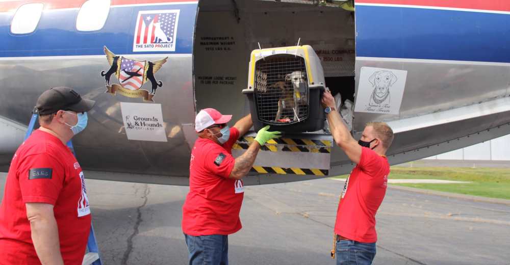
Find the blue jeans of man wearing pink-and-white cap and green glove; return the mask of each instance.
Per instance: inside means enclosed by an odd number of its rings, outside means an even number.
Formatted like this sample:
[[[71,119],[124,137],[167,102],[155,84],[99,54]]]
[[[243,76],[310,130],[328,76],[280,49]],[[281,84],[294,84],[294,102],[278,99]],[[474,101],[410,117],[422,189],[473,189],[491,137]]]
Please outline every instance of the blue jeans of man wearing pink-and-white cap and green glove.
[[[189,265],[228,265],[228,235],[184,234]]]

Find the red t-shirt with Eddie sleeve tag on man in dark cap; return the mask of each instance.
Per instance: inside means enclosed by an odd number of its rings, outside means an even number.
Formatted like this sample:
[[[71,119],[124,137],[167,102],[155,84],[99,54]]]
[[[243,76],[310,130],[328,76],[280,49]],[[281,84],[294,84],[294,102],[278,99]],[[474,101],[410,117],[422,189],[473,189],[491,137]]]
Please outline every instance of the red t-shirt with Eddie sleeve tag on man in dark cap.
[[[40,264],[25,203],[53,204],[64,263],[82,264],[90,231],[84,176],[57,137],[35,130],[14,154],[0,205],[0,264]]]

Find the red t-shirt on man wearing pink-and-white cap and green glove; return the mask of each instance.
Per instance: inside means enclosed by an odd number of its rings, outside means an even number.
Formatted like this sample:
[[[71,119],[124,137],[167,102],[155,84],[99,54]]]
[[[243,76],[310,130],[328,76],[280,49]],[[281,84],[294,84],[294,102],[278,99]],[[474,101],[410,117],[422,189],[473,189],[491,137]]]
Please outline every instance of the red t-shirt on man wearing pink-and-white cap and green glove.
[[[241,229],[242,180],[228,178],[235,164],[236,128],[223,145],[198,138],[191,151],[190,191],[183,205],[183,232],[188,235],[232,234]]]

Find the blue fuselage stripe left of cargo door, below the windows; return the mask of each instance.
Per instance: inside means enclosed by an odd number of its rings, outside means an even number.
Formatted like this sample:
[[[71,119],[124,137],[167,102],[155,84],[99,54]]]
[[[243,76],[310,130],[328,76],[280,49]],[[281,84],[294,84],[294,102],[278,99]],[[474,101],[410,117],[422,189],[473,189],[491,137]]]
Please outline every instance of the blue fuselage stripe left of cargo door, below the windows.
[[[180,9],[175,51],[133,52],[138,11]],[[0,57],[104,55],[103,46],[115,54],[191,54],[197,4],[127,6],[110,9],[103,29],[75,30],[78,10],[45,11],[29,35],[10,34],[11,13],[0,13]]]

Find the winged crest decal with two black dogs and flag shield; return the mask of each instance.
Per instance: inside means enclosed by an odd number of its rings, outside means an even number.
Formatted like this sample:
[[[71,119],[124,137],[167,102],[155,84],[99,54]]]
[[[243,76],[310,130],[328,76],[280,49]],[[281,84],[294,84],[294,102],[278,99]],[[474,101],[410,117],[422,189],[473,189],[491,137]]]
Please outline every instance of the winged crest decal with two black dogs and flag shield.
[[[111,95],[119,93],[133,98],[141,97],[143,101],[154,102],[152,98],[156,95],[156,90],[163,86],[163,82],[157,81],[154,74],[166,63],[168,57],[155,62],[137,61],[117,56],[106,46],[104,49],[108,63],[111,65],[107,72],[101,71],[101,76],[105,77],[107,88],[105,93],[110,93]],[[119,84],[110,86],[110,76],[112,74],[117,76]],[[141,89],[147,81],[150,81],[151,84],[150,92]]]

